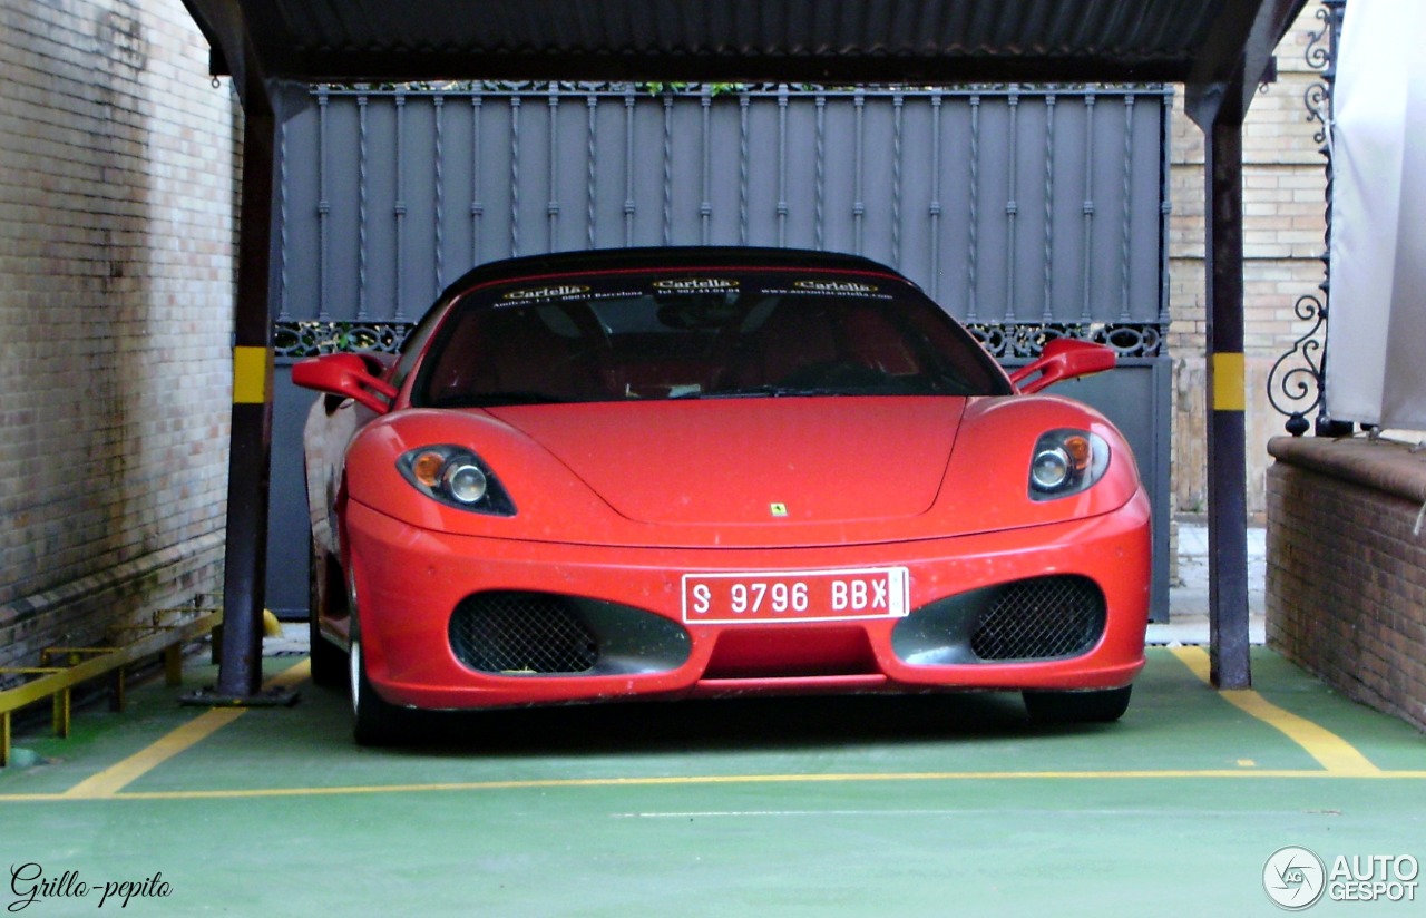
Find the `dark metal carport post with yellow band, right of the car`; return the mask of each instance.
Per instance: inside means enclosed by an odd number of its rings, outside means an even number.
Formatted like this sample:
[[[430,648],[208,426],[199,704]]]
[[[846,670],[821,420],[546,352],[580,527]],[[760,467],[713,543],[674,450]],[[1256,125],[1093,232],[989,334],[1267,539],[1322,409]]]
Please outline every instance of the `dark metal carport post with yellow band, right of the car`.
[[[1241,93],[1231,91],[1226,100]],[[1226,101],[1225,100],[1225,101]],[[1252,684],[1248,657],[1248,506],[1243,435],[1242,115],[1232,101],[1206,128],[1208,178],[1208,631],[1211,679]]]

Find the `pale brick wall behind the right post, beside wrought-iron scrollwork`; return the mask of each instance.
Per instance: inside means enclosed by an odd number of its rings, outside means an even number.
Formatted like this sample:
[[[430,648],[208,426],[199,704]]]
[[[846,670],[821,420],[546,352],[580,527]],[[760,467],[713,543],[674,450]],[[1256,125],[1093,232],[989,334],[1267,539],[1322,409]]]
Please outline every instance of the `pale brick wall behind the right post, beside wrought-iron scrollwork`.
[[[1278,81],[1258,93],[1243,124],[1243,352],[1248,386],[1248,510],[1265,509],[1266,445],[1285,418],[1268,403],[1268,372],[1308,326],[1293,315],[1318,294],[1326,249],[1326,160],[1308,120],[1303,94],[1320,81],[1308,66],[1312,34],[1323,23],[1309,0],[1278,46]],[[1325,44],[1325,43],[1322,43]],[[1319,44],[1320,47],[1320,44]],[[1182,111],[1171,137],[1169,306],[1174,358],[1174,507],[1206,509],[1204,134]]]

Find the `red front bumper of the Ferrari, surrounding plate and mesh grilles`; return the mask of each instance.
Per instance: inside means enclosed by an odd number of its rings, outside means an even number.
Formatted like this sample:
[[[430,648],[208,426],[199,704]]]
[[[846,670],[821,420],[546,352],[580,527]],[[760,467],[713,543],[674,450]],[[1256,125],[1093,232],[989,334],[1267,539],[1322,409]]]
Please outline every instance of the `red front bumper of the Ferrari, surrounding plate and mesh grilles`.
[[[1114,688],[1144,666],[1151,564],[1142,492],[1114,513],[1070,523],[816,549],[629,549],[452,536],[414,529],[355,502],[347,532],[368,677],[388,701],[409,707]],[[684,574],[868,567],[906,569],[908,614],[684,623]],[[1102,594],[1102,627],[1084,647],[1031,660],[987,660],[967,649],[977,597],[1047,577]],[[589,624],[589,666],[570,673],[483,671],[472,669],[468,649],[462,663],[452,647],[452,616],[468,597],[492,593],[568,603]]]

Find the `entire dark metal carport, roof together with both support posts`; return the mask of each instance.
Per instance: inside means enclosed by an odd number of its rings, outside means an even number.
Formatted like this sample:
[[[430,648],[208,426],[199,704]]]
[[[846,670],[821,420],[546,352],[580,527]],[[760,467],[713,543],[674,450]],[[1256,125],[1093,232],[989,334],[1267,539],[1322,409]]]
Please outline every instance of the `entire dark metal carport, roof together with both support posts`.
[[[268,355],[270,80],[1184,83],[1208,134],[1212,677],[1246,687],[1242,117],[1306,0],[184,0],[242,96],[235,361]],[[1224,358],[1219,361],[1218,358]],[[252,362],[250,361],[250,365]],[[1221,368],[1215,371],[1214,368]],[[235,402],[217,691],[258,694],[271,433]]]

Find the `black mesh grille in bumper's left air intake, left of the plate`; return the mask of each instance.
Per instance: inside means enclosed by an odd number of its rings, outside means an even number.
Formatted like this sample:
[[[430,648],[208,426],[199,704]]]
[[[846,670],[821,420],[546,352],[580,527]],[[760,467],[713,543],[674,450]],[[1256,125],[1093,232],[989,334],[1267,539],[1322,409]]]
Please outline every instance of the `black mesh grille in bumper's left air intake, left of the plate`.
[[[599,644],[559,596],[478,593],[451,616],[451,650],[483,673],[586,673]]]

